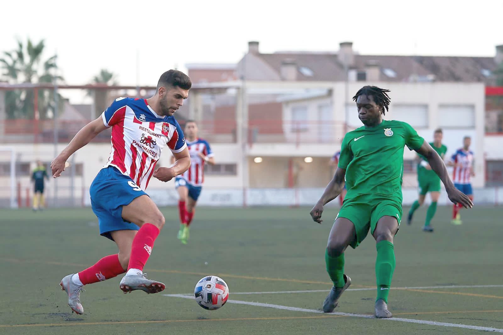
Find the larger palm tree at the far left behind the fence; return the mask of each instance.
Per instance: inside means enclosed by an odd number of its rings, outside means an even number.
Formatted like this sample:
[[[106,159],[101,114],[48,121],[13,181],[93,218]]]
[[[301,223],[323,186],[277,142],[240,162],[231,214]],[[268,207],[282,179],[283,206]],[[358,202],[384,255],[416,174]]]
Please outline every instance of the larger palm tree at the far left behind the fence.
[[[10,83],[50,83],[54,79],[62,81],[61,76],[54,76],[51,72],[57,69],[56,56],[42,61],[44,40],[33,43],[28,39],[26,45],[18,40],[15,50],[5,51],[0,58],[0,65],[4,69],[2,76]],[[62,101],[62,99],[59,99]],[[52,90],[38,90],[38,110],[41,119],[53,115],[54,99]],[[34,115],[34,91],[14,90],[6,92],[6,111],[8,118],[29,119]],[[48,113],[50,111],[50,113]]]

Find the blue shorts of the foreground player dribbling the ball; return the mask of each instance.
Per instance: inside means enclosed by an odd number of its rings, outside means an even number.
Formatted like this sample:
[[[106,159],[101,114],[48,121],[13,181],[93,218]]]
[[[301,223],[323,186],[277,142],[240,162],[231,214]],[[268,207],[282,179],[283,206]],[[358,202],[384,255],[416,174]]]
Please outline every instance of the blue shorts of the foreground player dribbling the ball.
[[[138,230],[136,224],[124,221],[122,206],[133,199],[146,195],[128,176],[124,176],[114,166],[101,169],[89,189],[91,207],[98,217],[100,235],[112,238],[111,231]]]

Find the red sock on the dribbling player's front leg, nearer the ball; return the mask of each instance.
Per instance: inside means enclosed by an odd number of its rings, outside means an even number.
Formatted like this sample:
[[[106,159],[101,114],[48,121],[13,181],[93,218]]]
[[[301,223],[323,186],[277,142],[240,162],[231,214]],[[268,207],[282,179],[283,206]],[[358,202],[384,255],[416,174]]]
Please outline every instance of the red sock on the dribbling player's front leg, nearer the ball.
[[[152,253],[154,241],[159,235],[159,228],[151,223],[144,223],[136,233],[131,245],[131,257],[127,269],[143,270]]]

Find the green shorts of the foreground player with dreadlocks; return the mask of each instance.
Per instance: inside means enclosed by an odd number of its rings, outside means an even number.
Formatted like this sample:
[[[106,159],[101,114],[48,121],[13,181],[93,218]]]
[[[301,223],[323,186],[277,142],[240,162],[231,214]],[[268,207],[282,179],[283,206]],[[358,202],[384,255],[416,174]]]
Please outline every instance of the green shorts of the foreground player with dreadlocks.
[[[373,234],[377,221],[383,216],[395,217],[400,225],[402,220],[402,205],[397,201],[386,198],[360,197],[344,201],[336,220],[344,217],[355,225],[356,241],[351,243],[352,248],[356,248],[370,233]]]

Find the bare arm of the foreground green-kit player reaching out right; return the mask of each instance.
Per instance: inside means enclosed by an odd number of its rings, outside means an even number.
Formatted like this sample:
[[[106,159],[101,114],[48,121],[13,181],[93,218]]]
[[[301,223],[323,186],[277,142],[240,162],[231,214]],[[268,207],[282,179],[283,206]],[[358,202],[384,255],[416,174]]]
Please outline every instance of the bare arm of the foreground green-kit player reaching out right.
[[[449,178],[449,174],[447,173],[447,167],[444,161],[442,160],[442,157],[440,157],[437,151],[435,151],[427,141],[424,141],[423,145],[421,145],[420,148],[415,149],[415,151],[426,157],[428,163],[432,167],[432,170],[435,171],[437,176],[440,177],[442,183],[444,183],[447,195],[453,203],[455,204],[459,203],[463,205],[465,208],[468,207],[471,208],[473,206],[470,198],[468,198],[468,196],[464,195],[462,192],[460,192],[454,187],[454,184]]]

